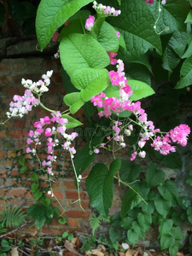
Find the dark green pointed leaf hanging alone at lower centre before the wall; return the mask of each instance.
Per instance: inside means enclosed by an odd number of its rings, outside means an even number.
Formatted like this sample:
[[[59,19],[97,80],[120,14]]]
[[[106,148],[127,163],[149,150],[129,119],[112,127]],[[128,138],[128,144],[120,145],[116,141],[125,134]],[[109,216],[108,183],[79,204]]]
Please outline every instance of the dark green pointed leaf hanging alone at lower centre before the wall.
[[[104,217],[108,217],[109,208],[113,201],[113,175],[117,172],[114,168],[108,171],[104,164],[96,164],[86,179],[86,189],[90,196],[91,207]]]

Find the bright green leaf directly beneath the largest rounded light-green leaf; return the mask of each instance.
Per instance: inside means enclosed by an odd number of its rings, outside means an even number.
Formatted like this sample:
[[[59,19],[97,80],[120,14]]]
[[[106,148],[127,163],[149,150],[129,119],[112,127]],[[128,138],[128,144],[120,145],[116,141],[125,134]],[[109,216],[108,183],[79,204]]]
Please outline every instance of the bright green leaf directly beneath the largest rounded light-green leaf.
[[[108,70],[81,68],[73,72],[71,80],[74,86],[81,90],[80,96],[82,100],[88,102],[92,96],[100,94],[108,87]]]

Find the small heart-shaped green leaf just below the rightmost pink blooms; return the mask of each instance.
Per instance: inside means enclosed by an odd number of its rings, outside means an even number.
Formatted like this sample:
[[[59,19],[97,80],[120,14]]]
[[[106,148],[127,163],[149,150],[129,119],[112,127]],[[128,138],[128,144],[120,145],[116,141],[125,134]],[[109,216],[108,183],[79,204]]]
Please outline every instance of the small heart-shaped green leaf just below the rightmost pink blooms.
[[[162,183],[165,176],[165,172],[157,169],[154,164],[148,166],[146,180],[149,187],[154,187]]]

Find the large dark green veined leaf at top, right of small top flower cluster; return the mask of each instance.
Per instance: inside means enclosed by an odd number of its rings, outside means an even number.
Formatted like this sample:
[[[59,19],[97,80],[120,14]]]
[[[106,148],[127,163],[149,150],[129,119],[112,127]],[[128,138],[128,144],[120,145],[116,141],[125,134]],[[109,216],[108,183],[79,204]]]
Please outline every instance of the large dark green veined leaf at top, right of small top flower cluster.
[[[161,53],[160,36],[154,32],[154,15],[143,0],[122,0],[122,13],[111,18],[110,24],[124,36],[127,50],[121,54],[132,59],[143,55],[150,48]],[[114,8],[119,9],[118,5]]]

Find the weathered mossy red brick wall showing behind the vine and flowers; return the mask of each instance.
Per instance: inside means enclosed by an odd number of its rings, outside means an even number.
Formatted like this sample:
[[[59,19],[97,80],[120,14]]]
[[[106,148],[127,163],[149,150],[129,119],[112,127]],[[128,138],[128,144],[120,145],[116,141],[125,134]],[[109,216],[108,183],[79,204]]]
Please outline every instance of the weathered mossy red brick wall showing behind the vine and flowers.
[[[12,98],[15,94],[23,95],[25,88],[20,84],[22,78],[32,79],[33,81],[38,81],[41,78],[43,73],[46,73],[48,70],[53,70],[53,76],[51,78],[51,85],[49,85],[49,92],[44,93],[43,102],[48,108],[58,109],[64,111],[67,109],[62,98],[65,93],[64,86],[61,80],[61,63],[59,60],[55,60],[53,54],[56,51],[56,46],[49,46],[44,54],[37,51],[37,41],[35,38],[30,38],[27,40],[19,41],[18,38],[11,39],[1,39],[0,40],[1,51],[0,51],[0,113],[2,114],[2,119],[5,119],[4,113],[9,110],[9,102],[12,101]],[[189,111],[188,111],[189,113]],[[0,172],[4,173],[5,168],[9,169],[9,166],[12,166],[11,160],[8,160],[9,157],[15,154],[13,151],[19,148],[26,148],[26,137],[28,131],[32,129],[32,125],[39,118],[48,115],[48,113],[43,108],[33,108],[32,112],[29,113],[26,117],[22,119],[11,119],[7,126],[0,126]],[[84,113],[80,110],[76,117],[79,120],[82,120]],[[186,121],[186,118],[190,119],[191,116],[184,116],[181,114],[181,123]],[[189,124],[189,122],[188,122]],[[6,148],[6,143],[9,142],[9,147]],[[76,144],[76,147],[81,147],[84,145],[84,142],[79,140]],[[186,178],[189,175],[191,170],[191,154],[186,156],[186,151],[189,151],[190,145],[188,148],[183,149],[183,167],[182,170],[166,169],[166,176],[176,178],[179,191],[182,195],[190,196],[190,188],[179,185],[179,182],[183,180],[185,182]],[[184,156],[185,155],[185,156]],[[68,155],[64,154],[65,160],[62,162],[63,172],[67,172],[70,167],[70,161]],[[126,159],[126,153],[121,154],[123,159]],[[109,160],[109,155],[98,155],[96,161],[104,162],[106,159]],[[147,169],[148,163],[151,160],[141,160],[139,164],[143,166],[143,171]],[[12,175],[18,176],[17,168],[13,169]],[[6,183],[0,183],[0,196],[3,195],[4,187],[11,186],[15,183],[15,178],[6,180]],[[51,235],[60,235],[64,230],[79,230],[82,232],[90,232],[90,227],[88,224],[88,219],[90,218],[90,205],[89,197],[85,192],[84,181],[82,182],[82,206],[84,207],[85,212],[79,207],[79,203],[76,202],[72,204],[73,201],[78,199],[78,192],[75,188],[73,178],[66,177],[60,179],[58,182],[54,183],[53,189],[57,199],[60,201],[61,205],[67,209],[65,213],[67,217],[67,225],[63,226],[58,224],[57,220],[54,219],[51,224],[45,225],[39,233],[51,234]],[[119,212],[120,203],[122,195],[125,195],[124,189],[119,188],[117,185],[115,187],[115,195],[113,197],[113,207],[111,208],[111,213]],[[26,192],[26,188],[19,186],[12,188],[6,194],[7,197],[11,197],[9,202],[11,205],[21,205],[24,208],[27,208],[32,205],[32,195],[27,193],[25,198],[23,195]],[[6,203],[6,204],[9,204]],[[58,207],[61,212],[62,209],[55,201],[51,198],[51,205]],[[0,201],[0,209],[2,210],[4,206],[4,201]],[[102,227],[100,230],[103,232],[105,227]],[[187,230],[187,229],[185,229]],[[27,231],[36,233],[34,227],[30,227]],[[146,241],[141,242],[145,246],[149,245],[158,245],[159,242],[156,240],[157,230],[151,229],[146,235]]]

